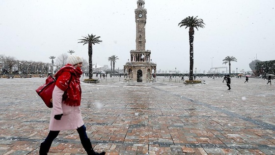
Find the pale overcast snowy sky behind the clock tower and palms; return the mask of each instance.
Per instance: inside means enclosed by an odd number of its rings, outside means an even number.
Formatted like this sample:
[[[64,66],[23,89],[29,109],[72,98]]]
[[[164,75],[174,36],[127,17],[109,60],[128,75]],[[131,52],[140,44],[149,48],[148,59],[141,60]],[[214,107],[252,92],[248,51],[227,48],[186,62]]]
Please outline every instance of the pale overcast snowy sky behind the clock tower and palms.
[[[88,60],[87,34],[101,36],[93,46],[93,63],[119,58],[123,68],[136,49],[137,0],[0,0],[0,54],[17,60],[51,62],[69,50]],[[275,0],[145,0],[146,50],[157,70],[189,70],[189,35],[179,27],[188,16],[203,19],[195,30],[194,69],[224,67],[250,70],[249,62],[275,60]],[[69,53],[67,53],[69,54]],[[214,57],[213,59],[211,59]]]

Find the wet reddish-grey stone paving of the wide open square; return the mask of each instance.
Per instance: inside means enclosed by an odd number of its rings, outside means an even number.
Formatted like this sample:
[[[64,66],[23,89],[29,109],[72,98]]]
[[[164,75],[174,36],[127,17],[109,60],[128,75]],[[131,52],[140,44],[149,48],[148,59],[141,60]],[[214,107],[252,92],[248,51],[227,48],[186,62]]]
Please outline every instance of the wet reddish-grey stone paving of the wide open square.
[[[45,79],[0,79],[0,155],[38,154],[51,113],[35,93]],[[232,78],[227,91],[222,78],[199,78],[206,84],[193,86],[167,79],[82,83],[82,115],[94,150],[106,155],[275,154],[275,80],[267,85],[250,78],[245,84],[245,78]],[[61,131],[49,153],[82,154],[76,130]]]

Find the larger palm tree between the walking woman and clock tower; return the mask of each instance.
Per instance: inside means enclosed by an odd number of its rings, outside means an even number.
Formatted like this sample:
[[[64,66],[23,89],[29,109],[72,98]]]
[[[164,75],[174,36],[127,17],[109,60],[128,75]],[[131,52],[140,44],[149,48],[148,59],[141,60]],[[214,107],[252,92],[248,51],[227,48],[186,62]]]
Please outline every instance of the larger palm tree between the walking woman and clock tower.
[[[88,36],[82,36],[83,39],[79,39],[82,40],[78,43],[84,43],[88,44],[88,56],[89,56],[89,79],[93,78],[93,63],[92,63],[92,56],[93,56],[93,44],[99,44],[100,42],[102,42],[102,40],[99,40],[100,36],[95,36],[93,34]]]

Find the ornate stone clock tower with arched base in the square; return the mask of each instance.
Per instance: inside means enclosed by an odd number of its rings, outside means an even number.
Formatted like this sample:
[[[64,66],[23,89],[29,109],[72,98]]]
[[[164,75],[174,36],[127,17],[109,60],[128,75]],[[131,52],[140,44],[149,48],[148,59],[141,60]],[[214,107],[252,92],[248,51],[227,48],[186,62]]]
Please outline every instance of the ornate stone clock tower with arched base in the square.
[[[124,65],[124,78],[126,81],[153,82],[157,64],[152,62],[151,51],[145,50],[145,24],[147,10],[144,8],[144,0],[137,1],[135,9],[136,19],[136,50],[130,51],[130,61]]]

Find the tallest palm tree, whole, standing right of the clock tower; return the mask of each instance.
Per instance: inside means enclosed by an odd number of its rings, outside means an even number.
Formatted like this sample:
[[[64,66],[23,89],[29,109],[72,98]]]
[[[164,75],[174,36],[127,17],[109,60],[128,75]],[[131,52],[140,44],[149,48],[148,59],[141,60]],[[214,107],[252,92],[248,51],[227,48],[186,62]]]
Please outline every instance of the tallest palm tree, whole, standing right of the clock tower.
[[[197,19],[197,16],[194,18],[186,17],[182,20],[178,26],[185,26],[185,29],[189,27],[189,45],[190,45],[190,69],[189,69],[189,80],[193,80],[193,66],[194,66],[194,58],[193,58],[193,41],[194,41],[194,28],[198,30],[198,28],[204,28],[202,19]]]

